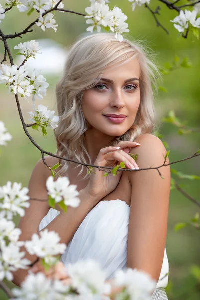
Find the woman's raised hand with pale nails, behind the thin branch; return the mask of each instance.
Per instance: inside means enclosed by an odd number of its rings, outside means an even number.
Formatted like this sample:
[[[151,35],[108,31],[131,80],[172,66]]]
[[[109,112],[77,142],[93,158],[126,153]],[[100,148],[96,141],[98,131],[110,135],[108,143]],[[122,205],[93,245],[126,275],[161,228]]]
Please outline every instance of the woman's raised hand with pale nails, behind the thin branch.
[[[129,169],[138,168],[135,160],[129,155],[132,147],[138,146],[138,143],[132,141],[121,141],[118,147],[102,148],[94,162],[95,165],[115,167],[120,162],[125,162],[125,166]],[[91,172],[89,182],[84,188],[84,191],[94,199],[96,205],[102,198],[112,192],[119,183],[122,171],[117,172],[116,176],[108,174],[103,177],[104,172],[94,169],[95,173]]]

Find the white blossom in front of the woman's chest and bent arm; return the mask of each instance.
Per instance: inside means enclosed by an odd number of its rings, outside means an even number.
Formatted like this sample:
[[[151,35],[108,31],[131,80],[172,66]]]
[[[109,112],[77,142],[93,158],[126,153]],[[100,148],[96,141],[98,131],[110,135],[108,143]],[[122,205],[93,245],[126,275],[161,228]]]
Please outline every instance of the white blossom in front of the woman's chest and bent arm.
[[[65,205],[77,207],[80,204],[80,199],[77,198],[79,192],[76,190],[77,185],[70,184],[68,177],[59,177],[56,181],[52,176],[46,180],[46,188],[48,194],[55,200],[56,203],[64,200]]]

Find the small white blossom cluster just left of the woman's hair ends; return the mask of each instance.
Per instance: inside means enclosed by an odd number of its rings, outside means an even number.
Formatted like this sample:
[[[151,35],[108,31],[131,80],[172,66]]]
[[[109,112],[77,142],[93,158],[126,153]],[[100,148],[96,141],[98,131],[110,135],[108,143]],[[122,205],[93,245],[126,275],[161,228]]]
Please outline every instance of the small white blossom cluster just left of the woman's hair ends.
[[[48,126],[49,128],[55,129],[57,127],[57,122],[59,117],[54,115],[54,110],[48,110],[48,107],[44,105],[38,105],[38,108],[34,112],[28,112],[31,115],[29,121],[38,123],[40,125]]]

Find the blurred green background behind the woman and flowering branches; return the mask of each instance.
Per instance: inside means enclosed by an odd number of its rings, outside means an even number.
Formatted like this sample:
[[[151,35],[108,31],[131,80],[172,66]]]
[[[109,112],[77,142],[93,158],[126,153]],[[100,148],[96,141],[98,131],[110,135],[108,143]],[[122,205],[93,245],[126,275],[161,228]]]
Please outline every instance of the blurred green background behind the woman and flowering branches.
[[[4,2],[2,2],[2,5]],[[89,6],[88,0],[63,1],[64,8],[84,13],[84,8]],[[179,5],[187,3],[180,1]],[[171,62],[175,55],[180,59],[188,57],[192,66],[190,68],[179,68],[163,76],[163,83],[167,93],[159,92],[156,96],[156,111],[158,118],[164,117],[168,111],[174,110],[176,115],[191,127],[199,128],[200,122],[200,44],[199,41],[189,33],[188,38],[177,38],[178,31],[173,27],[172,20],[177,16],[177,12],[169,10],[165,5],[157,0],[151,0],[150,7],[154,10],[157,5],[161,7],[161,15],[158,16],[162,25],[170,32],[167,35],[160,27],[156,27],[153,16],[142,7],[136,7],[131,11],[131,3],[128,0],[111,0],[110,8],[114,5],[120,7],[128,16],[130,33],[133,38],[144,40],[153,50],[157,62],[163,67],[165,62]],[[14,8],[6,13],[2,20],[1,29],[4,34],[20,32],[34,21],[37,13],[31,16],[26,13],[19,13]],[[34,26],[34,31],[22,38],[9,39],[8,44],[12,55],[16,53],[14,46],[19,42],[31,39],[47,38],[61,44],[64,49],[77,39],[81,34],[85,34],[87,25],[82,16],[70,13],[55,13],[58,30],[47,29],[45,32],[39,27]],[[4,55],[3,43],[0,42],[0,59]],[[17,56],[14,56],[14,59]],[[56,59],[56,52],[54,54]],[[48,61],[47,61],[48,63]],[[63,61],[64,64],[64,61]],[[43,104],[49,109],[55,109],[55,84],[60,75],[44,75],[49,83],[46,96],[42,101],[36,100],[36,104]],[[20,98],[22,112],[25,121],[28,122],[28,111],[32,110],[31,100],[28,102]],[[23,186],[28,185],[31,171],[40,159],[40,152],[31,144],[23,132],[18,111],[15,103],[14,94],[8,94],[7,88],[0,84],[0,120],[5,123],[6,128],[12,134],[13,139],[8,146],[2,147],[0,159],[0,185],[4,185],[8,180],[22,182]],[[45,150],[56,151],[56,144],[52,130],[48,129],[48,136],[42,137],[41,132],[29,129],[35,141]],[[189,135],[178,135],[177,128],[171,124],[162,124],[159,130],[164,135],[164,141],[169,144],[170,162],[188,157],[197,151],[200,144],[199,131]],[[167,150],[169,149],[167,148]],[[173,169],[186,174],[199,175],[200,159],[199,157],[177,163],[172,166]],[[192,197],[199,200],[199,180],[179,180],[184,190]],[[166,240],[166,250],[169,259],[169,284],[166,288],[170,300],[198,300],[200,298],[200,280],[196,278],[196,273],[191,270],[191,266],[200,265],[199,257],[199,231],[195,228],[186,227],[178,232],[174,232],[174,226],[178,222],[190,220],[199,208],[186,199],[176,190],[171,190],[169,215],[168,215],[168,233]],[[16,220],[18,222],[18,220]],[[198,275],[200,277],[200,275]],[[13,286],[11,284],[10,286]],[[0,299],[6,299],[4,293],[0,291]]]

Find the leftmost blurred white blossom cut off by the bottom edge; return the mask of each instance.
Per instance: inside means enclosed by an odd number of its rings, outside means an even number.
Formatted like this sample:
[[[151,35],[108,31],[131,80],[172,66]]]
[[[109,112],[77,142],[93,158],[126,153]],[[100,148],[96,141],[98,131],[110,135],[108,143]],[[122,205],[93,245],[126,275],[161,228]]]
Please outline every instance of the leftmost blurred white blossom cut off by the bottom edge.
[[[68,286],[61,281],[46,278],[43,273],[29,274],[21,284],[21,289],[12,289],[16,300],[66,300]]]

